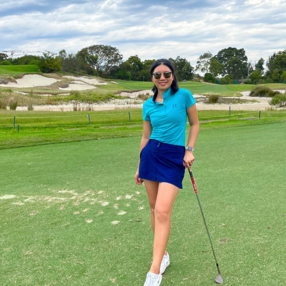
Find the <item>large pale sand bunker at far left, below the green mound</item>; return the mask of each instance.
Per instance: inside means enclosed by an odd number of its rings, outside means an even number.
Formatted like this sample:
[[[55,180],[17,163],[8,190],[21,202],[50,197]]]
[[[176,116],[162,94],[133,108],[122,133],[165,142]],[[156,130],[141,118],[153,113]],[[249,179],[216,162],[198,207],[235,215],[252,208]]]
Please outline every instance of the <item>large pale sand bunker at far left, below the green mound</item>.
[[[10,88],[32,88],[34,86],[49,86],[58,80],[55,78],[46,78],[45,76],[40,76],[39,74],[26,74],[23,78],[16,80],[17,84],[14,82],[9,82],[8,84],[0,84],[0,86],[10,87]]]

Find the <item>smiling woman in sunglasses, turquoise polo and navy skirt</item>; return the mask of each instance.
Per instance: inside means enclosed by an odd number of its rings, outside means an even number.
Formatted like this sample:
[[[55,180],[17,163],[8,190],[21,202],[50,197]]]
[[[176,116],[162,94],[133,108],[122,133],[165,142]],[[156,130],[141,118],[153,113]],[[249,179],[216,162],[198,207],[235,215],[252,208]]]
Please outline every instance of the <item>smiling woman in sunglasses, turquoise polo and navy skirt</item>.
[[[143,180],[151,210],[154,232],[153,261],[144,286],[160,285],[169,266],[166,247],[171,229],[171,212],[182,188],[184,170],[194,162],[193,150],[199,131],[196,104],[192,94],[178,88],[170,61],[152,64],[154,96],[143,104],[143,136],[135,182]],[[186,116],[190,123],[185,148]]]

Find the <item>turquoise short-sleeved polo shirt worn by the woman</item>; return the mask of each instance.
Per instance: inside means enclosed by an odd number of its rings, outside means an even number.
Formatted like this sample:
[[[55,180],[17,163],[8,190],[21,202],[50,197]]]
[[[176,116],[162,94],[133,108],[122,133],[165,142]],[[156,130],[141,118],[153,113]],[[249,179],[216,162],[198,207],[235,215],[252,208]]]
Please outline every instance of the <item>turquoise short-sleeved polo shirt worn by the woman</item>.
[[[171,94],[169,88],[163,93],[163,103],[155,102],[157,94],[143,104],[143,120],[150,120],[150,139],[163,143],[185,146],[187,109],[195,104],[192,94],[183,88]]]

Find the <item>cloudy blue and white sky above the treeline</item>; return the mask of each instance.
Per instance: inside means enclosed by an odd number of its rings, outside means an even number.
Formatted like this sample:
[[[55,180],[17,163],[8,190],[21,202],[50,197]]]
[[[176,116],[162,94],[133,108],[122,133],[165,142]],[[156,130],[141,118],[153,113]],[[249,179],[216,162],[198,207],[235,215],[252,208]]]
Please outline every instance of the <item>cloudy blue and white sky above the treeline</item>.
[[[0,0],[0,51],[117,47],[126,60],[244,48],[265,60],[286,48],[286,0]]]

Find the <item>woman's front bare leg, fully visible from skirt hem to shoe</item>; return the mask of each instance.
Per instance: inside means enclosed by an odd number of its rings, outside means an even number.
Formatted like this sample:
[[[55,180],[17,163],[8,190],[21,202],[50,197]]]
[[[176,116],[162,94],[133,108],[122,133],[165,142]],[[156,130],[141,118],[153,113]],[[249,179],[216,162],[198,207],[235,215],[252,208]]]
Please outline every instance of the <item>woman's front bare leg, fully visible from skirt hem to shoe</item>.
[[[159,274],[163,255],[171,230],[172,208],[179,192],[179,188],[169,183],[159,183],[154,209],[155,231],[153,243],[153,262],[150,272]]]

